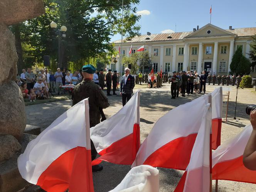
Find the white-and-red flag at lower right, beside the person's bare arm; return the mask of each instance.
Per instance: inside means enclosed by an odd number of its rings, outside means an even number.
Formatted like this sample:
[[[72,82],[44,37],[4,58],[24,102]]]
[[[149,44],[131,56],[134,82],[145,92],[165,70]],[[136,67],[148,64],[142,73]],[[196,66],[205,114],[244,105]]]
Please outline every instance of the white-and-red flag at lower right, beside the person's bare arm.
[[[243,153],[253,127],[243,131],[212,152],[212,179],[231,180],[256,184],[256,172],[243,164]]]

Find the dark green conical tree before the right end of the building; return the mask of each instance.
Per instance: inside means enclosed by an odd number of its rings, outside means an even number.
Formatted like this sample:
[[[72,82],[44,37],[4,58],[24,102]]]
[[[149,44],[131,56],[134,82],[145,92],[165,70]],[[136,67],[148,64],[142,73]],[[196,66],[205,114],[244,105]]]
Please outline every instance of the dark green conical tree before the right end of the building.
[[[251,72],[251,62],[249,59],[243,56],[242,48],[238,47],[230,64],[232,73],[238,74],[249,74]]]

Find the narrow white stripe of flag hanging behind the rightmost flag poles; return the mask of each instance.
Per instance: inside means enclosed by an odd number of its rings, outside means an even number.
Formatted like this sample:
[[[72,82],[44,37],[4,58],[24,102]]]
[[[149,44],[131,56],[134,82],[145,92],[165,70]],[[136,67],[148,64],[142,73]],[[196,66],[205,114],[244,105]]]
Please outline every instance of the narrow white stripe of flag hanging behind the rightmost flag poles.
[[[222,87],[212,91],[212,119],[222,118]]]

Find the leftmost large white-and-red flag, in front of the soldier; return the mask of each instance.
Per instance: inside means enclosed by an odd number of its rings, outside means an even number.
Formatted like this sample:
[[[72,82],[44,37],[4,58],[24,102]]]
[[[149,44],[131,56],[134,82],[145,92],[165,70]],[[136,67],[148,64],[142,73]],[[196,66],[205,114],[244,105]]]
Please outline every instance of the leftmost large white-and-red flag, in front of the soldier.
[[[93,192],[88,99],[30,141],[18,168],[22,178],[47,192]]]

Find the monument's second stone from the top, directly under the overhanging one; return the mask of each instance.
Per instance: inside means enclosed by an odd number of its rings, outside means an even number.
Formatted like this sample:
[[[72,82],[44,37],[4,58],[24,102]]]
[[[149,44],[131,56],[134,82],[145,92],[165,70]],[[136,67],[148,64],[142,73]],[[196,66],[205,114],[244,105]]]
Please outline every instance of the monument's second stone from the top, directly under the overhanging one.
[[[0,3],[1,7],[1,3]],[[1,8],[0,8],[1,18]],[[0,85],[10,80],[16,81],[18,56],[15,48],[15,37],[7,28],[7,25],[0,22]]]

